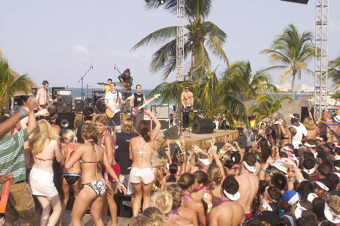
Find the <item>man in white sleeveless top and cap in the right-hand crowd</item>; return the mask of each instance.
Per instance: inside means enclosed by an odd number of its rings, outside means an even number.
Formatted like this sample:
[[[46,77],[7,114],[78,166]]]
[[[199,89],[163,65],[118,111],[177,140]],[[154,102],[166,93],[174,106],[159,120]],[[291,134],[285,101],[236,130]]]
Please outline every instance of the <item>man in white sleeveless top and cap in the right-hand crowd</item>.
[[[290,129],[290,134],[292,134],[292,145],[294,146],[294,149],[299,149],[299,146],[302,146],[302,139],[304,139],[304,136],[307,136],[307,129],[304,127],[302,123],[299,122],[300,115],[297,113],[294,113],[290,115],[290,122],[292,123],[292,126]]]

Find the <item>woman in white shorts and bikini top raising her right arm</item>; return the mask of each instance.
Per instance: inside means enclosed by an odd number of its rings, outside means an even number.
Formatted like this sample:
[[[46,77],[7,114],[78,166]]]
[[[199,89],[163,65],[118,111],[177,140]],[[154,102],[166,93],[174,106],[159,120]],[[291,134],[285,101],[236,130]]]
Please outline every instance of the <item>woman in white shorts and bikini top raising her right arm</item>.
[[[154,140],[161,129],[161,122],[155,117],[151,111],[147,110],[154,120],[156,127],[150,132],[149,122],[140,121],[138,125],[138,133],[140,136],[130,139],[130,160],[132,160],[130,171],[130,182],[135,190],[135,199],[132,202],[133,216],[138,216],[143,198],[143,210],[150,206],[150,195],[152,184],[155,179],[154,168],[151,164],[152,152],[154,150]]]

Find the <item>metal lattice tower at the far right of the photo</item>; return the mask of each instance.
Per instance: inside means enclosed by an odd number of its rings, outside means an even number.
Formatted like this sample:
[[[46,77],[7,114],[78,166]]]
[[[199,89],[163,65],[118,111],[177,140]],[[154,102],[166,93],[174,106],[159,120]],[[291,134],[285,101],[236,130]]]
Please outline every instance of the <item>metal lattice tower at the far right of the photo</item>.
[[[314,108],[319,110],[319,119],[321,109],[327,106],[328,9],[329,0],[316,0]]]

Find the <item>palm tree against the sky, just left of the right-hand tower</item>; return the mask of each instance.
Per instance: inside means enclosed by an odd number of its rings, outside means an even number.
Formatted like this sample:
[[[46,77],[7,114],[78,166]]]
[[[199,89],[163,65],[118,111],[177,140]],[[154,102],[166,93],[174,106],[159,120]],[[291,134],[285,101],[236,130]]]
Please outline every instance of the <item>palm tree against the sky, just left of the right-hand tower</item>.
[[[295,93],[295,78],[301,78],[301,71],[313,73],[308,70],[308,62],[313,59],[315,55],[315,48],[312,44],[313,35],[311,32],[304,32],[302,34],[297,31],[293,24],[280,34],[272,43],[270,49],[265,49],[261,53],[270,55],[270,61],[279,65],[271,66],[271,69],[285,70],[280,80],[283,81],[287,76],[292,76],[292,98]]]

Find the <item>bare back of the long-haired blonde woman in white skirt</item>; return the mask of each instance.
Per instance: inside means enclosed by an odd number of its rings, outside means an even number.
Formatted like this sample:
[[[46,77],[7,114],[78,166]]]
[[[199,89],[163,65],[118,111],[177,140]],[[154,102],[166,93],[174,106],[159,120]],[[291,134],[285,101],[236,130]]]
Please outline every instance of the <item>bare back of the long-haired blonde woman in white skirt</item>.
[[[46,140],[41,153],[34,155],[33,167],[43,171],[53,173],[53,159],[55,158],[55,151],[59,151],[59,146],[55,140]]]

